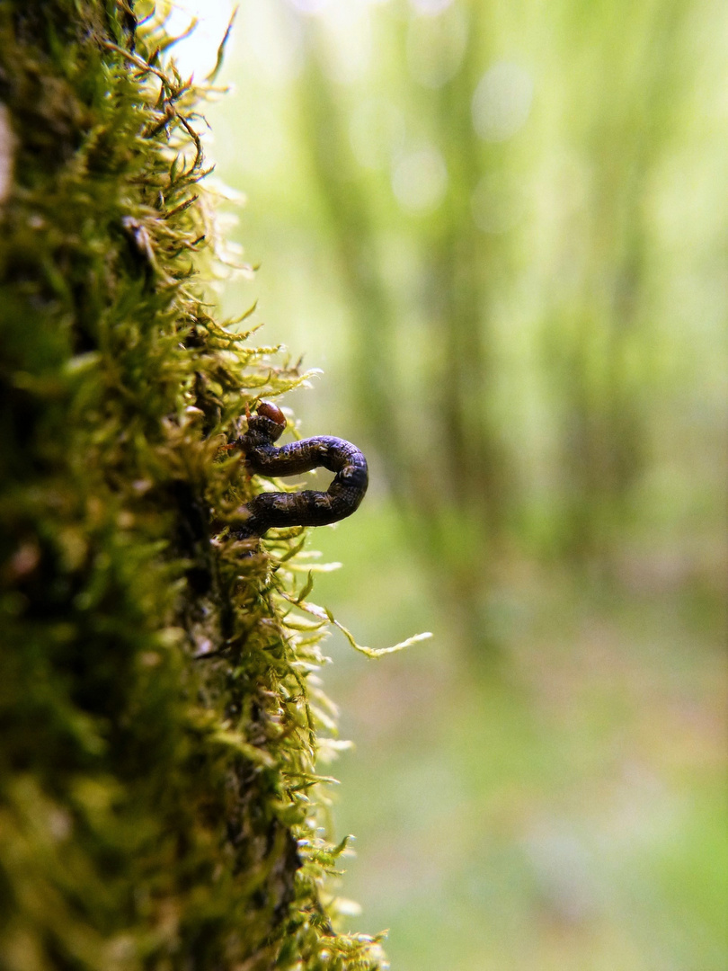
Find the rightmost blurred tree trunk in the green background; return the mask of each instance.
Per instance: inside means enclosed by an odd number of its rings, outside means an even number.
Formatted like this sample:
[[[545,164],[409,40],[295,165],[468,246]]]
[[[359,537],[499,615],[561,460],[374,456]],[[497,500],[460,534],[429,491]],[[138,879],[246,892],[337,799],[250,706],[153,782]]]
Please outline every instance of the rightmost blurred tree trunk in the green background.
[[[659,335],[649,319],[646,203],[681,108],[687,14],[683,0],[602,4],[588,23],[570,11],[562,32],[575,102],[568,128],[579,139],[588,188],[576,302],[555,309],[544,370],[562,398],[567,501],[558,546],[581,567],[609,567],[648,462],[653,402],[645,385]],[[585,76],[593,89],[581,89]]]

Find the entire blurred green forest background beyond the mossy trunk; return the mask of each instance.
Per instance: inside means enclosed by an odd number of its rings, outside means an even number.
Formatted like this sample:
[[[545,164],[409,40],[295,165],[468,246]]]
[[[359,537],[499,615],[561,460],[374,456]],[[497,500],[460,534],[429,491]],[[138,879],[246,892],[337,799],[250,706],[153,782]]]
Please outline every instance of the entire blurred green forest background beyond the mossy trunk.
[[[370,458],[314,600],[435,634],[324,672],[396,971],[728,968],[726,36],[714,0],[240,4],[209,151],[261,265],[221,305]]]

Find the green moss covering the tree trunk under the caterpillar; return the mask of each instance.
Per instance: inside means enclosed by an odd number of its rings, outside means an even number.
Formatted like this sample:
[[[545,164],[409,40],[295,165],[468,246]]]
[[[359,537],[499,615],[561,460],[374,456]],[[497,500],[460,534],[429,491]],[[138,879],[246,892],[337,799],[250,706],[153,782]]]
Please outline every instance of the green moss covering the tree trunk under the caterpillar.
[[[383,968],[331,886],[302,537],[220,532],[221,445],[304,376],[207,302],[150,8],[0,0],[0,967]]]

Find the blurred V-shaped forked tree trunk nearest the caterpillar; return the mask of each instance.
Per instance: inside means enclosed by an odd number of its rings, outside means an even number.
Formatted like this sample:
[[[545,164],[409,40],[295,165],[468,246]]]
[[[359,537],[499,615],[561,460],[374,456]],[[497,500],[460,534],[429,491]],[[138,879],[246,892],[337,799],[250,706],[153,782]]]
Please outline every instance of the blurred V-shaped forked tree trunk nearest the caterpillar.
[[[399,387],[397,315],[380,269],[381,226],[368,210],[369,197],[348,150],[346,113],[322,69],[325,54],[315,29],[309,32],[312,57],[300,90],[302,130],[351,298],[356,339],[350,368],[362,417],[385,459],[392,493],[421,537],[417,549],[441,579],[450,579],[450,599],[458,605],[466,638],[480,646],[488,636],[482,629],[481,593],[488,585],[490,557],[506,532],[511,485],[494,414],[488,240],[471,218],[480,176],[470,109],[481,61],[477,20],[466,36],[461,69],[432,102],[457,190],[447,193],[420,253],[422,332],[411,340],[425,342],[428,367],[414,436],[406,434],[407,406]],[[399,41],[403,45],[405,38]],[[463,555],[463,530],[471,555]]]

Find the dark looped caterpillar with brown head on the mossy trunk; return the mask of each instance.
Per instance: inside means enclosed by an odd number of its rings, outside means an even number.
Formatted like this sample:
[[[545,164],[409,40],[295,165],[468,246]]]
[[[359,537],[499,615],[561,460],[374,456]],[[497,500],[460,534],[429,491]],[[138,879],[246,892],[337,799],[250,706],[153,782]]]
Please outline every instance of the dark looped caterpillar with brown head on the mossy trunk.
[[[359,508],[369,485],[367,460],[343,438],[318,435],[277,448],[285,428],[280,408],[261,401],[248,412],[248,431],[229,448],[245,454],[249,472],[260,476],[292,476],[322,467],[336,475],[325,492],[260,492],[240,509],[247,519],[232,529],[238,539],[263,536],[272,527],[325,526],[346,519]]]

